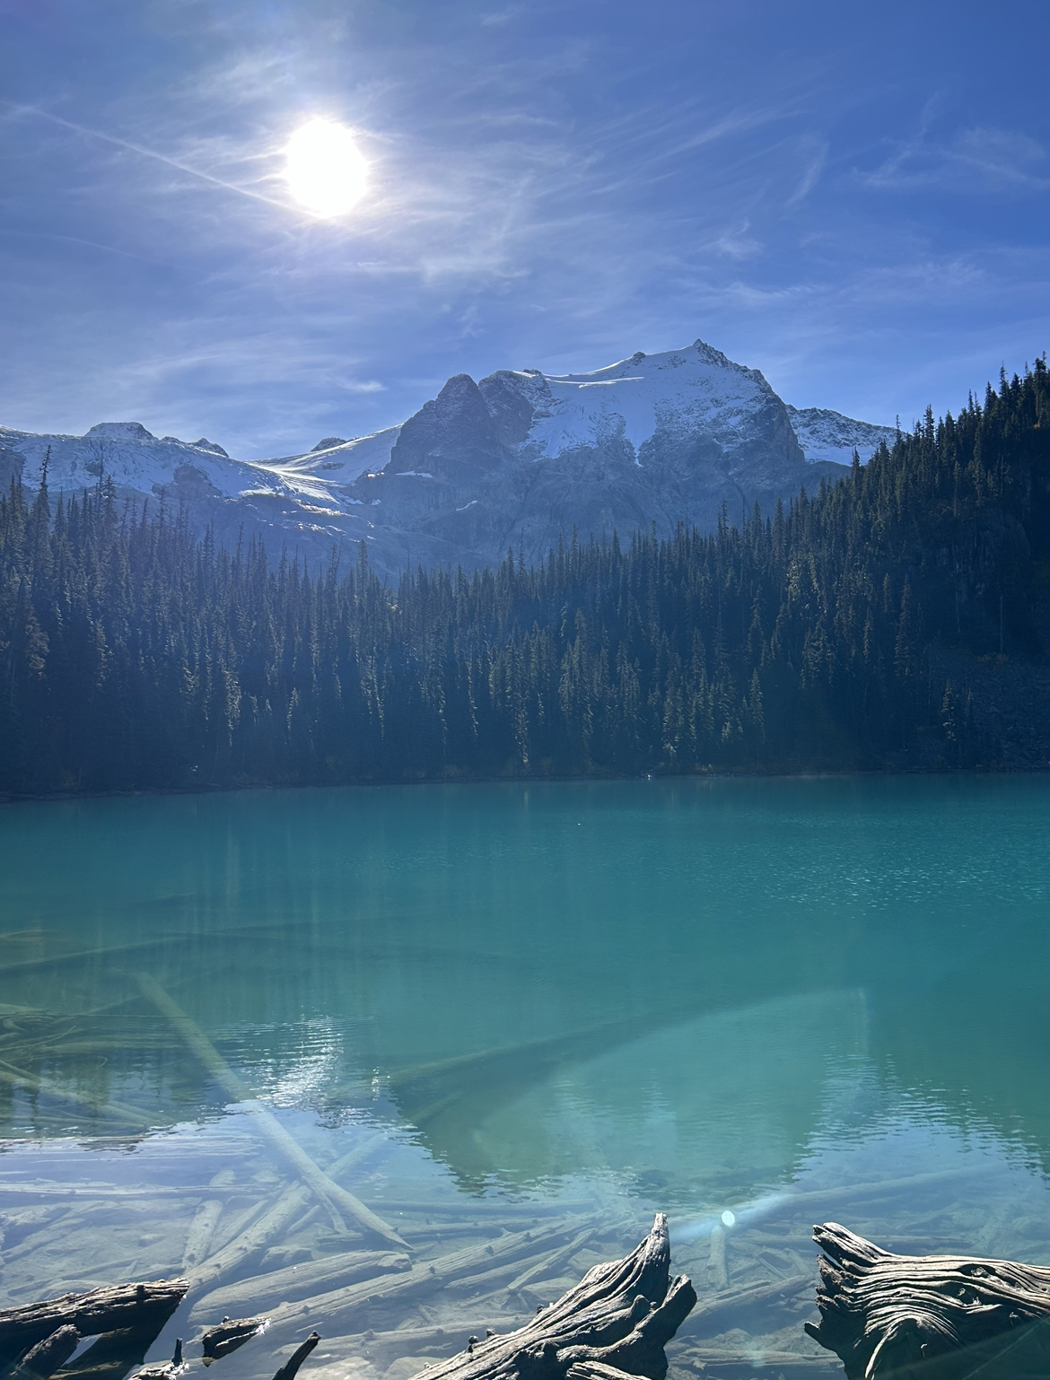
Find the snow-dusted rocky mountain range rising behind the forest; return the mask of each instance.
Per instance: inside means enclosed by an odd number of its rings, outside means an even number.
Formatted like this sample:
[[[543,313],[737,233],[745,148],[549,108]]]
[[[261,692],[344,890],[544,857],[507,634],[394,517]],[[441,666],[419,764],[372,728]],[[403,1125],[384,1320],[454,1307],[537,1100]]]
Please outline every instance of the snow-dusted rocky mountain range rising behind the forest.
[[[400,426],[305,455],[232,460],[214,442],[152,436],[102,422],[84,436],[0,428],[0,482],[52,491],[101,475],[124,494],[184,506],[192,526],[230,544],[257,533],[272,552],[312,562],[364,540],[373,564],[475,567],[522,551],[528,560],[575,530],[621,537],[655,523],[712,529],[755,502],[767,512],[854,447],[868,460],[893,428],[788,407],[757,370],[702,341],[632,355],[591,374],[499,370],[450,378]]]

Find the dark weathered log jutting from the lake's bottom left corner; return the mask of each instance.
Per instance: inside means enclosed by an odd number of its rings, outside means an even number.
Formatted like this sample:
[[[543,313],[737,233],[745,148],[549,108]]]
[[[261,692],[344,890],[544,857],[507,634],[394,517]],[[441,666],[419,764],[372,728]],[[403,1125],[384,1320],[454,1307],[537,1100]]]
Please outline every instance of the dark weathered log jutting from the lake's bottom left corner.
[[[10,1363],[62,1326],[76,1328],[81,1337],[119,1329],[146,1332],[155,1328],[160,1332],[188,1288],[185,1279],[160,1279],[149,1285],[117,1285],[63,1294],[22,1308],[4,1308],[0,1312],[0,1365]]]

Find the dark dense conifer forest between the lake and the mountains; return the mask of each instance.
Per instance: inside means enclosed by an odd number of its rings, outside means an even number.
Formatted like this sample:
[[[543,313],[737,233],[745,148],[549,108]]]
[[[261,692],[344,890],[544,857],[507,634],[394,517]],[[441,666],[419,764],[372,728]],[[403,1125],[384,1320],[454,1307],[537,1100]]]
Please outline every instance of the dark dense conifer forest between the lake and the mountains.
[[[15,795],[995,766],[964,668],[1047,653],[1043,360],[742,529],[396,588],[364,551],[217,549],[105,475],[0,498]]]

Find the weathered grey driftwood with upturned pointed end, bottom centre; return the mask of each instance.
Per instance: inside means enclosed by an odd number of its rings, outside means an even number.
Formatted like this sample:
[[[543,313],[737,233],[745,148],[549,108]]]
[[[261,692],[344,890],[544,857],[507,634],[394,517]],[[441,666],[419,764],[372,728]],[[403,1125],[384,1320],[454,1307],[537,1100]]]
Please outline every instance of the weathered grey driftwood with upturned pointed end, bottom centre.
[[[671,1278],[668,1220],[624,1260],[595,1265],[557,1303],[504,1336],[472,1337],[466,1351],[430,1366],[426,1380],[664,1380],[664,1347],[697,1296]]]

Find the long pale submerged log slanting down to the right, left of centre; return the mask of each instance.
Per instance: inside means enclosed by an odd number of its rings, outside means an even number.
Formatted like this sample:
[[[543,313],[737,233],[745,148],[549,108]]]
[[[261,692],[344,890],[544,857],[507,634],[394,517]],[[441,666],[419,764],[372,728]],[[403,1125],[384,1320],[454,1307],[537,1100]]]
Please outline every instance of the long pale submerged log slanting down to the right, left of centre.
[[[385,1223],[382,1217],[377,1216],[377,1213],[374,1213],[370,1208],[366,1208],[359,1198],[355,1198],[352,1192],[341,1184],[337,1184],[334,1179],[330,1179],[328,1174],[326,1174],[324,1170],[313,1159],[310,1159],[295,1137],[288,1134],[273,1112],[251,1096],[246,1083],[243,1083],[241,1079],[233,1072],[222,1054],[219,1054],[207,1038],[204,1031],[182,1010],[177,1002],[168,996],[156,978],[150,977],[148,973],[137,973],[135,980],[138,981],[142,995],[146,996],[159,1012],[163,1012],[164,1016],[167,1016],[185,1041],[186,1046],[197,1056],[224,1093],[235,1101],[241,1103],[247,1111],[254,1114],[255,1125],[259,1127],[266,1140],[269,1140],[270,1145],[295,1169],[302,1181],[308,1184],[316,1196],[324,1203],[337,1231],[346,1230],[346,1223],[342,1216],[345,1213],[364,1231],[379,1236],[382,1241],[386,1241],[393,1246],[400,1246],[403,1250],[408,1249],[389,1223]]]

